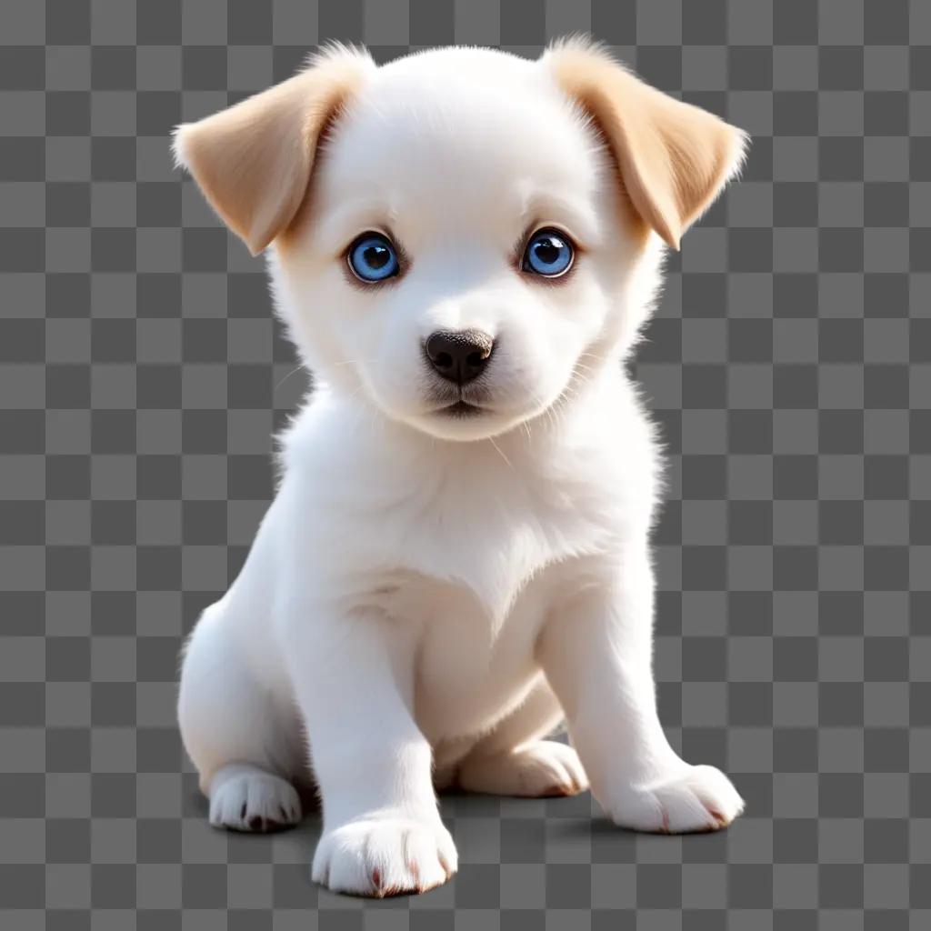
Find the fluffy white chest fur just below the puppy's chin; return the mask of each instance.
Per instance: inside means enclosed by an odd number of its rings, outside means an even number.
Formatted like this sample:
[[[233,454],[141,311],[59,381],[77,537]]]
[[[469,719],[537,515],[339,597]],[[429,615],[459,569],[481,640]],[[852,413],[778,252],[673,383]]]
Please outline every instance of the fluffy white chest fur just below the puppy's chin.
[[[591,423],[451,445],[386,436],[392,428],[318,398],[285,440],[282,495],[305,515],[295,525],[298,551],[315,560],[306,571],[344,607],[392,613],[421,614],[424,587],[461,587],[501,627],[547,567],[610,560],[649,521],[649,427],[620,376],[591,401]],[[616,436],[592,428],[603,406]]]

